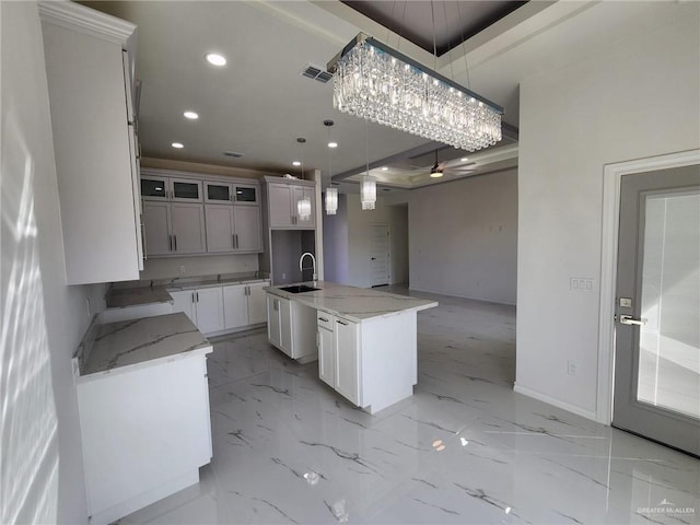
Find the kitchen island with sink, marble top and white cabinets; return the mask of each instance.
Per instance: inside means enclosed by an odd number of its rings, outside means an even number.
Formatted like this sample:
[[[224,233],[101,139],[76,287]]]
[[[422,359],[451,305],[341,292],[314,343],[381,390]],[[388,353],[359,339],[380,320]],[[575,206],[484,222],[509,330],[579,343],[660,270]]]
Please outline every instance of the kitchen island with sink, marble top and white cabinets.
[[[268,339],[370,413],[413,394],[417,313],[434,301],[328,281],[268,287]]]

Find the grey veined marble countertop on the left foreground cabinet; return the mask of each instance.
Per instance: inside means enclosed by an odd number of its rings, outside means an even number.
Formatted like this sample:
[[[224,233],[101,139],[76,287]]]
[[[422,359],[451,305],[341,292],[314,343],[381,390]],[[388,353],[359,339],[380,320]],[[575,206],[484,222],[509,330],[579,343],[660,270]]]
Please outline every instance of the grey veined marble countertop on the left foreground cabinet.
[[[81,355],[77,355],[81,377],[186,352],[211,351],[211,343],[183,313],[94,325],[81,347]]]

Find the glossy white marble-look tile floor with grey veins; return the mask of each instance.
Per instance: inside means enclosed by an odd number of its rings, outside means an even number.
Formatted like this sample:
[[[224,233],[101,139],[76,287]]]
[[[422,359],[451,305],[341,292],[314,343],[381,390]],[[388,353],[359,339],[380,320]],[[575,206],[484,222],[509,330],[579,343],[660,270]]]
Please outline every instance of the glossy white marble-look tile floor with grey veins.
[[[513,307],[416,295],[415,395],[375,416],[264,330],[215,342],[211,464],[121,523],[700,523],[699,460],[513,392]]]

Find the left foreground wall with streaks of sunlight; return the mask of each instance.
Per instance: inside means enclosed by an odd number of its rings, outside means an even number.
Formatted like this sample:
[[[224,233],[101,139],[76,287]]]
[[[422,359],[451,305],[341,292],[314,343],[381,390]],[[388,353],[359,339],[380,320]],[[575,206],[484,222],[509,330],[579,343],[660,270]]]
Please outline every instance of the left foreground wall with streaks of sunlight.
[[[0,2],[2,347],[0,523],[86,523],[70,359],[104,285],[65,285],[44,48],[35,2]]]

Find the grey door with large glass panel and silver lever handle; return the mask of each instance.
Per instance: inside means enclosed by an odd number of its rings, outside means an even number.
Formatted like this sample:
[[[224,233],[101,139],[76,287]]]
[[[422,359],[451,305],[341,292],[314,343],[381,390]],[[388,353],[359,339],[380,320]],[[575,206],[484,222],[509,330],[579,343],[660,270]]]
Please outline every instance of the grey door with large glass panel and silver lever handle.
[[[620,195],[612,425],[700,455],[700,166]]]

